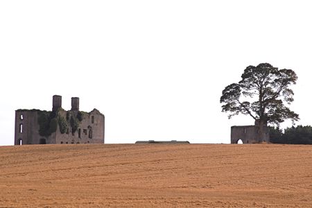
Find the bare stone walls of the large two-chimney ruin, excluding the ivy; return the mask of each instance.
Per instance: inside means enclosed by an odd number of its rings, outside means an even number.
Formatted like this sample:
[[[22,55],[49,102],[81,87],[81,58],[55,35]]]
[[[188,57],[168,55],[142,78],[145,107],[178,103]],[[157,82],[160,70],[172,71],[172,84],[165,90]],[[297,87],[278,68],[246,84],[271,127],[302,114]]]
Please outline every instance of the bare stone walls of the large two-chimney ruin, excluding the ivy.
[[[62,110],[62,97],[53,96],[53,112],[62,119],[66,119],[67,130],[60,132],[60,125],[57,123],[55,132],[42,137],[39,133],[40,125],[38,116],[45,112],[41,110],[16,110],[15,111],[15,145],[19,144],[103,144],[105,135],[105,116],[98,110],[92,112],[79,112],[79,98],[71,98],[71,109]],[[51,112],[45,112],[51,113]],[[68,114],[77,118],[82,116],[78,122],[78,128],[73,131],[70,125]],[[51,117],[53,118],[53,117]],[[78,120],[77,120],[78,121]],[[64,128],[63,128],[64,129]]]

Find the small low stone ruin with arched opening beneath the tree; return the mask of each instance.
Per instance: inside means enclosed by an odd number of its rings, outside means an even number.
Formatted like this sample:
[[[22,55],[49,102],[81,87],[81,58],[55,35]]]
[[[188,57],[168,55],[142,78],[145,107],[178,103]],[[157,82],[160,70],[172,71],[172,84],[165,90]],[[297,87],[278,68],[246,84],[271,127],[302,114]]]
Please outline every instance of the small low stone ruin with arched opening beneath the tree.
[[[231,144],[237,144],[239,140],[241,140],[243,144],[269,143],[270,130],[267,125],[264,125],[263,138],[261,138],[258,125],[234,125],[231,127]]]

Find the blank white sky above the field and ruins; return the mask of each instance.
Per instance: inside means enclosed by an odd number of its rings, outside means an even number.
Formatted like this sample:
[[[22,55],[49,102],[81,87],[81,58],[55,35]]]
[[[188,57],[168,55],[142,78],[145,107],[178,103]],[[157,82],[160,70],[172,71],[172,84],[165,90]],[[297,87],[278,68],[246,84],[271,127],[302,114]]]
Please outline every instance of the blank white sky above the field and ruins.
[[[15,110],[105,114],[105,143],[229,143],[225,86],[248,65],[293,69],[291,109],[312,125],[309,1],[0,1],[0,145]],[[291,125],[291,122],[284,126]]]

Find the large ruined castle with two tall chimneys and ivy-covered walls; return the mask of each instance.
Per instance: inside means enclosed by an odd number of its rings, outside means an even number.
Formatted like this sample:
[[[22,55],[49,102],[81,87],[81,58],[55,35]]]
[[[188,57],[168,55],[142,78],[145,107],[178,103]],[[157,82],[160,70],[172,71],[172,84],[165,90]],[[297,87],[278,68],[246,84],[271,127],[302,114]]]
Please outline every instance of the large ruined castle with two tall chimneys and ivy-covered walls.
[[[52,106],[52,111],[15,111],[15,145],[104,143],[105,116],[101,112],[80,111],[79,98],[71,98],[71,110],[63,110],[58,95],[53,96]]]

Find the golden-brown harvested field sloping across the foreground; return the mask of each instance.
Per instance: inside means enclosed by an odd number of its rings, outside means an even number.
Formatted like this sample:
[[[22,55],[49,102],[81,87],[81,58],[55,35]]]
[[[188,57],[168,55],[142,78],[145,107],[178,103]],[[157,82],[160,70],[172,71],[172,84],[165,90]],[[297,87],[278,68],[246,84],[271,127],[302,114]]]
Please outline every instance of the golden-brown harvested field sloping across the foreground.
[[[312,207],[312,146],[0,147],[0,207]]]

